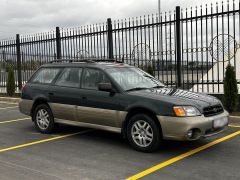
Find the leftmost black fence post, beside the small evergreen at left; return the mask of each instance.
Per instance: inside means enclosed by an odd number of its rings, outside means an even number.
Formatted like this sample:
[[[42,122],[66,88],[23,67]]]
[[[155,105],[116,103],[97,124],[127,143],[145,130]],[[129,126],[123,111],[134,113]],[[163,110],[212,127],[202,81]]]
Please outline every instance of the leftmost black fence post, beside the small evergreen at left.
[[[20,49],[20,37],[16,35],[16,51],[17,51],[17,75],[18,75],[18,89],[22,89],[22,63],[21,63],[21,49]]]

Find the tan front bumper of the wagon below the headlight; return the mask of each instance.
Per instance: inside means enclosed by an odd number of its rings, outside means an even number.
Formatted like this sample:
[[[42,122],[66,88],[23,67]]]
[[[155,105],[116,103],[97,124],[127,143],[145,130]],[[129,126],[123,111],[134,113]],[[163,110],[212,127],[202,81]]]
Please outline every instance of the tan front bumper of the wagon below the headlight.
[[[210,137],[223,132],[227,129],[228,123],[221,128],[215,129],[213,127],[213,121],[224,117],[228,119],[228,116],[228,112],[224,111],[221,114],[211,117],[201,115],[195,117],[157,116],[157,118],[161,124],[164,139],[190,141]],[[187,135],[190,130],[193,130],[192,137]]]

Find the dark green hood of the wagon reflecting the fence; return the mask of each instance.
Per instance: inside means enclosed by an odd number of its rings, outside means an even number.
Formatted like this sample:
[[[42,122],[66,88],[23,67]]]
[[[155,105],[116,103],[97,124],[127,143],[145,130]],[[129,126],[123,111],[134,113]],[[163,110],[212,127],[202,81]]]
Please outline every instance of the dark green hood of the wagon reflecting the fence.
[[[207,94],[190,92],[174,88],[154,88],[129,92],[132,95],[147,97],[159,101],[169,102],[173,105],[191,105],[203,110],[205,107],[221,104],[221,102]]]

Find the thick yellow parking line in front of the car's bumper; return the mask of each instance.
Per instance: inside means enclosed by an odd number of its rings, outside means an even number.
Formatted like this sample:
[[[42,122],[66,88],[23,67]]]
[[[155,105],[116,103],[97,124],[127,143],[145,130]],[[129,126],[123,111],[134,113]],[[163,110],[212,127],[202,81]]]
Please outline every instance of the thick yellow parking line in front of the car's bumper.
[[[217,139],[217,140],[215,140],[215,141],[213,141],[213,142],[210,142],[210,143],[208,143],[208,144],[206,144],[206,145],[200,146],[200,147],[198,147],[198,148],[196,148],[196,149],[193,149],[193,150],[191,150],[191,151],[189,151],[189,152],[186,152],[186,153],[181,154],[181,155],[179,155],[179,156],[176,156],[176,157],[174,157],[174,158],[172,158],[172,159],[169,159],[169,160],[167,160],[167,161],[165,161],[165,162],[163,162],[163,163],[160,163],[160,164],[158,164],[158,165],[156,165],[156,166],[153,166],[153,167],[151,167],[151,168],[149,168],[149,169],[147,169],[147,170],[144,170],[144,171],[142,171],[142,172],[140,172],[140,173],[138,173],[138,174],[136,174],[136,175],[133,175],[133,176],[127,178],[127,180],[140,179],[140,178],[142,178],[142,177],[144,177],[144,176],[146,176],[146,175],[149,175],[149,174],[151,174],[151,173],[153,173],[153,172],[155,172],[155,171],[157,171],[157,170],[159,170],[159,169],[162,169],[162,168],[164,168],[164,167],[166,167],[166,166],[168,166],[168,165],[170,165],[170,164],[173,164],[173,163],[175,163],[175,162],[177,162],[177,161],[180,161],[180,160],[182,160],[182,159],[184,159],[184,158],[186,158],[186,157],[188,157],[188,156],[191,156],[191,155],[193,155],[193,154],[196,154],[196,153],[198,153],[198,152],[200,152],[200,151],[202,151],[202,150],[205,150],[205,149],[207,149],[207,148],[210,148],[210,147],[212,147],[212,146],[214,146],[214,145],[216,145],[216,144],[219,144],[219,143],[221,143],[221,142],[223,142],[223,141],[226,141],[226,140],[228,140],[228,139],[230,139],[230,138],[233,138],[233,137],[235,137],[235,136],[237,136],[237,135],[240,135],[240,131],[237,131],[237,132],[235,132],[235,133],[232,133],[232,134],[230,134],[230,135],[227,135],[227,136],[225,136],[225,137],[222,137],[222,138],[220,138],[220,139]]]

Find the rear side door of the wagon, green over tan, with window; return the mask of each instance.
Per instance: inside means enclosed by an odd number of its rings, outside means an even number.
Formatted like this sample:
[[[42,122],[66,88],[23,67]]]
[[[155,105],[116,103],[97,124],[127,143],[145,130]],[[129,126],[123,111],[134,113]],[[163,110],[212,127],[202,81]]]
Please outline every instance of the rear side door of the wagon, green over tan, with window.
[[[81,105],[80,79],[82,68],[64,68],[49,90],[50,106],[54,117],[76,120],[76,107]]]

